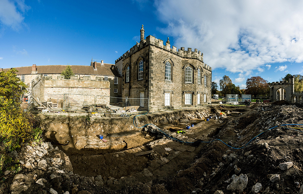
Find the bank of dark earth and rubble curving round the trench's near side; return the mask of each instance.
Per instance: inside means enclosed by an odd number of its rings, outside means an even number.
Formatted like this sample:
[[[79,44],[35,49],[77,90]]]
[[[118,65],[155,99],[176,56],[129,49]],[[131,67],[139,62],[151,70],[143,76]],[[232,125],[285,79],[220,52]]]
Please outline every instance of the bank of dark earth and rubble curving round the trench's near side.
[[[301,105],[283,101],[254,105],[247,114],[229,117],[211,143],[201,143],[204,148],[196,159],[184,163],[187,169],[119,190],[111,186],[119,182],[115,178],[73,174],[68,157],[50,144],[25,145],[22,153],[12,153],[24,169],[5,172],[0,194],[302,194],[302,111]]]

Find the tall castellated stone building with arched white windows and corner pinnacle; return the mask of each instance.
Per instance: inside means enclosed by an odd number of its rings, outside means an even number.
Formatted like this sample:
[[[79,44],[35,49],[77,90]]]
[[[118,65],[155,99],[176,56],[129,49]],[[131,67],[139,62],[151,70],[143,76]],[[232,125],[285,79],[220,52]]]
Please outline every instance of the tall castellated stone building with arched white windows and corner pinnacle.
[[[150,111],[199,107],[211,102],[211,67],[203,53],[178,49],[154,36],[144,38],[115,61],[122,72],[123,98],[149,98]],[[132,104],[130,104],[132,105]]]

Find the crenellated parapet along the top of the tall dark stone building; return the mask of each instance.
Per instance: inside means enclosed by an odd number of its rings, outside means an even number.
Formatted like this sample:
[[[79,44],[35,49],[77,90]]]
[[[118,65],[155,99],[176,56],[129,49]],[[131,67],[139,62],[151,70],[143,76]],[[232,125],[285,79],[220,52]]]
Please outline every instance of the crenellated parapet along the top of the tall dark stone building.
[[[169,40],[164,44],[163,40],[157,39],[152,35],[149,35],[148,37],[146,37],[145,41],[141,41],[140,43],[137,42],[136,45],[134,45],[127,52],[125,52],[121,57],[119,57],[119,59],[117,59],[115,61],[115,63],[117,63],[120,60],[128,58],[129,56],[131,56],[138,50],[144,48],[146,45],[156,46],[165,51],[174,53],[175,55],[178,55],[182,58],[198,59],[203,63],[205,69],[208,69],[211,71],[211,67],[203,62],[203,53],[201,53],[201,51],[198,51],[198,49],[194,49],[194,51],[192,51],[191,48],[188,48],[187,50],[185,50],[184,47],[181,47],[180,49],[177,50],[177,47],[175,47],[175,46],[171,47]]]

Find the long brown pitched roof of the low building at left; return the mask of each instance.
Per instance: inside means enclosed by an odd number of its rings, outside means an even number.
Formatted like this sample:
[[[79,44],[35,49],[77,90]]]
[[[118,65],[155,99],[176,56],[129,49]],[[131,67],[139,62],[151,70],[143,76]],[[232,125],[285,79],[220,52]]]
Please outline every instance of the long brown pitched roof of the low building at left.
[[[99,65],[100,64],[100,65]],[[97,70],[94,70],[93,66],[88,65],[70,65],[74,74],[85,74],[85,75],[108,75],[121,77],[118,69],[112,67],[113,64],[101,63],[97,64]],[[67,67],[67,65],[37,65],[37,74],[61,74],[62,71]],[[3,71],[8,71],[11,68],[3,69]],[[17,75],[27,75],[32,73],[32,66],[28,67],[15,67],[18,70]]]

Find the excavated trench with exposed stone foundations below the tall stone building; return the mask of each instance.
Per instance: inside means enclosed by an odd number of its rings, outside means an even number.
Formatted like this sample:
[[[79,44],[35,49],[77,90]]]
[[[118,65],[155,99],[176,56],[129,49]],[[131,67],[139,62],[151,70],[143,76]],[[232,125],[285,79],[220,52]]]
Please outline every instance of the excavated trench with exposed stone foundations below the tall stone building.
[[[214,114],[210,107],[158,112],[131,118],[66,117],[41,115],[45,137],[70,158],[74,174],[86,177],[101,175],[112,179],[119,188],[172,175],[186,169],[206,143],[201,142],[218,132],[219,120],[206,117]],[[152,123],[161,129],[160,132]],[[186,126],[193,124],[190,129]],[[178,134],[178,131],[185,131]],[[103,139],[99,139],[103,135]],[[169,138],[172,136],[179,141]],[[144,153],[141,156],[137,154]]]

